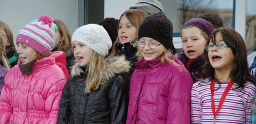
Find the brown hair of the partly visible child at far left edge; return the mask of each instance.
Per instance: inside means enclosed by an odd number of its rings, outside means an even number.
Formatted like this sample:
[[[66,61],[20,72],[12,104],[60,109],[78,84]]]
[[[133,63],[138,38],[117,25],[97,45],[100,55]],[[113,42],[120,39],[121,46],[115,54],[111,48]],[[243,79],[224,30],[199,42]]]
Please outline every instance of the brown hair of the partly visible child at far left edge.
[[[0,20],[0,28],[2,28],[2,30],[4,30],[4,32],[6,33],[6,35],[8,36],[8,42],[10,43],[9,46],[6,46],[5,53],[8,53],[10,49],[17,52],[13,42],[13,33],[10,26],[8,26],[8,24]]]

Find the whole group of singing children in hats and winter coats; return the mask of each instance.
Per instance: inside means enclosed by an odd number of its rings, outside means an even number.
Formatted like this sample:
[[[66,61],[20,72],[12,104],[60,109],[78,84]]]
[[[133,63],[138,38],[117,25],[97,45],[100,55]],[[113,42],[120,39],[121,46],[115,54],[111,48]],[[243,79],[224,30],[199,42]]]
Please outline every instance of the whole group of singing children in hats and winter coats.
[[[10,50],[2,23],[0,48]],[[1,53],[1,124],[249,123],[256,79],[235,30],[192,18],[175,58],[172,22],[156,0],[139,0],[123,13],[114,42],[98,24],[71,37],[61,23],[42,15],[22,28],[18,65],[8,68]]]

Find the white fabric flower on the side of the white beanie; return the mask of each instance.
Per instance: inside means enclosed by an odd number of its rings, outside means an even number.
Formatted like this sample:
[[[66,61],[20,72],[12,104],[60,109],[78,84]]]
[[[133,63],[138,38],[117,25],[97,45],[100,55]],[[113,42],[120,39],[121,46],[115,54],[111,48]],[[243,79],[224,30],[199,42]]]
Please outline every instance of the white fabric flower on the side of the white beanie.
[[[96,28],[84,30],[83,34],[84,34],[84,39],[91,43],[98,42],[101,38],[100,31]]]

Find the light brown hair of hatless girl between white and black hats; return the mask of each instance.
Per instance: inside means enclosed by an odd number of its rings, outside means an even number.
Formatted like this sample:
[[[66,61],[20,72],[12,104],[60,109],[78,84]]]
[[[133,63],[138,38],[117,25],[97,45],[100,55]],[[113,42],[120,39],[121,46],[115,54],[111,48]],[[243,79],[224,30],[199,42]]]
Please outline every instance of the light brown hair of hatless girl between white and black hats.
[[[140,27],[140,24],[143,22],[143,20],[149,14],[147,12],[143,11],[143,10],[138,10],[138,9],[126,10],[124,13],[122,13],[122,15],[119,18],[117,32],[119,32],[119,23],[120,23],[120,20],[121,20],[122,16],[124,16],[124,15],[126,16],[128,21],[133,26],[135,26],[137,28],[137,32],[138,32],[138,28]],[[136,34],[136,37],[138,37],[138,34]],[[110,53],[110,57],[113,57],[119,51],[118,49],[116,49],[116,46],[118,45],[118,43],[120,43],[119,37],[116,38],[116,41],[113,44],[113,48],[112,48],[112,51]]]

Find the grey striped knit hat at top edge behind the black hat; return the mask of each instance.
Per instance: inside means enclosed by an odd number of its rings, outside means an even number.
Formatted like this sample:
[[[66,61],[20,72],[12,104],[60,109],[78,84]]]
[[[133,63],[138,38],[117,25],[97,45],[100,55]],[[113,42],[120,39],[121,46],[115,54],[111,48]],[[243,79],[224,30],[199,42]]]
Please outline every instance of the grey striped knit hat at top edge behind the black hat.
[[[138,0],[138,2],[129,9],[139,9],[148,12],[152,15],[156,12],[164,12],[163,5],[157,0]]]

